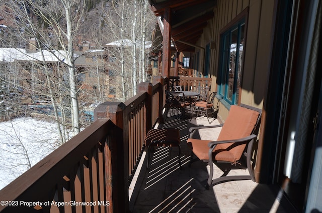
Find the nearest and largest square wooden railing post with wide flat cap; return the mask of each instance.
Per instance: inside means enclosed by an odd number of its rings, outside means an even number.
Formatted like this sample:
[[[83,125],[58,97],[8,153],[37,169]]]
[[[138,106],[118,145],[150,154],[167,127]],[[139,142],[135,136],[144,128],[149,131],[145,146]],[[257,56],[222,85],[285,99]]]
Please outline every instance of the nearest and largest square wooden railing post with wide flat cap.
[[[128,141],[124,138],[122,102],[104,102],[94,109],[94,120],[109,119],[115,126],[107,132],[104,145],[105,190],[108,212],[128,212]],[[112,200],[110,200],[112,199]]]

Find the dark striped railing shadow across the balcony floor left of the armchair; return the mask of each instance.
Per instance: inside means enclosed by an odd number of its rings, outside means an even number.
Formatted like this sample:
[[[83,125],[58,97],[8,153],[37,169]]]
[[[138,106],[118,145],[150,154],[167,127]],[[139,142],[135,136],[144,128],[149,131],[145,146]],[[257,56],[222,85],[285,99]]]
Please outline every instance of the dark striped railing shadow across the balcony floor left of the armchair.
[[[178,164],[177,147],[157,147],[137,175],[137,182],[130,200],[134,212],[220,212],[212,190],[206,190],[206,163],[199,161],[188,167],[190,151],[186,145],[189,128],[197,126],[196,119],[182,122],[176,119],[179,112],[169,112],[163,128],[178,128],[181,137],[181,163]],[[160,126],[159,126],[160,128]],[[143,161],[143,160],[142,160]]]

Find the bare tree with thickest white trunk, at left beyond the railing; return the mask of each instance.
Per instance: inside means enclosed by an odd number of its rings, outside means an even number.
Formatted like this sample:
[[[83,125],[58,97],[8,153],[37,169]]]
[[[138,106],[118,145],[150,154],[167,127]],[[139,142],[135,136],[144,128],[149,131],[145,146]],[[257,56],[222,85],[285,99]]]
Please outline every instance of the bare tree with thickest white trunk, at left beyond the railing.
[[[79,132],[79,106],[76,88],[76,69],[74,55],[74,41],[77,37],[79,26],[85,16],[86,1],[14,1],[9,0],[7,5],[11,8],[9,16],[16,17],[17,31],[21,32],[20,40],[26,45],[34,46],[34,50],[47,50],[59,61],[61,69],[66,70],[63,76],[68,81],[69,105],[71,112],[71,127],[73,134]],[[29,38],[35,38],[34,43],[29,42]],[[59,53],[59,54],[57,54]],[[63,56],[61,59],[60,56]],[[45,73],[48,71],[45,57],[37,59],[42,63]],[[53,79],[46,74],[48,88]],[[50,89],[49,89],[50,92]],[[50,96],[55,105],[54,94]],[[55,107],[54,107],[55,109]]]

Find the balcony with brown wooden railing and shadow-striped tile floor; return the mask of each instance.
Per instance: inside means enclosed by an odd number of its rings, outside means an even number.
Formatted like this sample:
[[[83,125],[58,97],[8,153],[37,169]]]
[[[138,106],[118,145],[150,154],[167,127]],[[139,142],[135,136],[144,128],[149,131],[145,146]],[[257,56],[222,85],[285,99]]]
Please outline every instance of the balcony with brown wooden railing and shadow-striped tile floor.
[[[203,187],[207,166],[188,167],[185,140],[189,126],[208,121],[181,122],[170,113],[164,122],[167,82],[141,83],[126,102],[99,105],[91,126],[0,191],[0,212],[286,212],[275,201],[278,191],[251,180]],[[145,169],[143,140],[154,124],[180,129],[182,170],[176,148],[168,147],[155,150]]]

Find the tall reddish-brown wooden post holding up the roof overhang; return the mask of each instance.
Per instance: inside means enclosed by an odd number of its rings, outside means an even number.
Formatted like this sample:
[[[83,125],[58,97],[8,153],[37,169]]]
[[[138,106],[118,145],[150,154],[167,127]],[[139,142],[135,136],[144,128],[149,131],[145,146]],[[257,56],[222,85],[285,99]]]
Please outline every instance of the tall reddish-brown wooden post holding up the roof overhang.
[[[162,60],[162,74],[165,77],[170,76],[170,62],[171,62],[171,9],[166,8],[164,17],[164,32],[163,32],[163,60]]]

